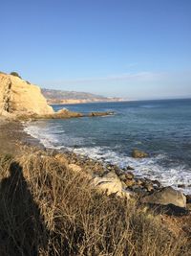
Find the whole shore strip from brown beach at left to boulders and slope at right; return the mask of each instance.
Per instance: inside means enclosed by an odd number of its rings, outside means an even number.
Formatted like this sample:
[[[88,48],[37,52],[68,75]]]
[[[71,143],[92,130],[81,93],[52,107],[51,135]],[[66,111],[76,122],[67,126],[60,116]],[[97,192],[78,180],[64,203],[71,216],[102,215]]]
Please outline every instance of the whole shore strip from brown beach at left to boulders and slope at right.
[[[120,169],[72,151],[46,149],[23,128],[21,122],[0,119],[0,155],[11,153],[21,157],[26,154],[50,157],[72,173],[83,175],[92,189],[101,195],[136,201],[148,216],[155,213],[171,230],[176,226],[176,233],[183,232],[190,236],[191,196],[185,196],[171,187],[162,187],[158,180],[138,177],[131,166]]]

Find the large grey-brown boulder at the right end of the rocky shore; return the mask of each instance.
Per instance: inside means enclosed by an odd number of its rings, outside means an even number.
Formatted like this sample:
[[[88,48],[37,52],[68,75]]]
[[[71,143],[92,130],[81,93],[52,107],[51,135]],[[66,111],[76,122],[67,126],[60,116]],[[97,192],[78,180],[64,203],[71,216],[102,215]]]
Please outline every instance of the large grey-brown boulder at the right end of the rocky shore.
[[[180,192],[171,187],[165,187],[153,194],[141,199],[142,202],[154,204],[174,204],[179,207],[186,207],[186,197]]]

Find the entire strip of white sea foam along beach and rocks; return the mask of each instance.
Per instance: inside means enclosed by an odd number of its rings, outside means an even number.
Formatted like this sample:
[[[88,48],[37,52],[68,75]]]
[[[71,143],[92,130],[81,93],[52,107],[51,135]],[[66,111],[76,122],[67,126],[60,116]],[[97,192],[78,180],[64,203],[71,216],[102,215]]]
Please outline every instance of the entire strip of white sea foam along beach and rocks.
[[[134,174],[139,177],[157,179],[163,186],[173,186],[185,194],[191,193],[191,187],[189,187],[191,170],[187,171],[182,166],[176,166],[176,168],[162,167],[159,165],[159,161],[167,157],[165,154],[135,159],[113,151],[109,147],[83,147],[83,138],[71,137],[65,134],[63,128],[59,125],[51,128],[49,126],[46,127],[45,124],[38,126],[39,122],[38,124],[27,125],[24,129],[48,149],[74,151],[77,154],[88,156],[104,163],[115,164],[120,168],[132,166],[135,169]],[[181,186],[182,184],[183,186]]]

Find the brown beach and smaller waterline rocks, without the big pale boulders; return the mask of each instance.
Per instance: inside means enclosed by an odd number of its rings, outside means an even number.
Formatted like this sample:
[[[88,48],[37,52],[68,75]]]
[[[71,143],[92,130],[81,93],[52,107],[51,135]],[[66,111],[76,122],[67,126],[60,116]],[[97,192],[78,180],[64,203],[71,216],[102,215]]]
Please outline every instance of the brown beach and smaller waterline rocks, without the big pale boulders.
[[[38,139],[32,137],[32,135],[24,130],[25,125],[25,122],[0,119],[0,154],[11,153],[18,155],[27,146],[29,149],[34,148],[50,153],[60,153],[68,159],[69,164],[79,166],[85,173],[93,176],[102,176],[114,172],[122,182],[123,189],[139,196],[149,195],[151,192],[163,188],[159,180],[135,175],[134,168],[131,166],[119,168],[115,164],[104,163],[102,160],[93,159],[87,155],[81,155],[73,151],[46,148]],[[125,179],[124,175],[127,175],[128,178]]]

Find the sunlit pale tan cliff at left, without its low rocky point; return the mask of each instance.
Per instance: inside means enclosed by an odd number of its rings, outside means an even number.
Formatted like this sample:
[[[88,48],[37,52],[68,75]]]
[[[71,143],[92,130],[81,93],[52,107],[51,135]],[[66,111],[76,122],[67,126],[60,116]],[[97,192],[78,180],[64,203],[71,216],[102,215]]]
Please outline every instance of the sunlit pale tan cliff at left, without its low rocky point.
[[[53,114],[38,86],[20,78],[0,74],[0,115]]]

